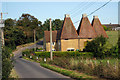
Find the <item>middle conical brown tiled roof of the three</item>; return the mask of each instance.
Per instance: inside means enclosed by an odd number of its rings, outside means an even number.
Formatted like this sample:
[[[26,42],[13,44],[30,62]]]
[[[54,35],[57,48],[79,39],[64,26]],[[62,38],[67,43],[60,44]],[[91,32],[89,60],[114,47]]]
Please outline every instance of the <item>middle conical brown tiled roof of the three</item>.
[[[86,38],[95,38],[97,36],[87,16],[82,17],[82,20],[80,22],[77,32],[78,32],[79,38],[86,39]]]

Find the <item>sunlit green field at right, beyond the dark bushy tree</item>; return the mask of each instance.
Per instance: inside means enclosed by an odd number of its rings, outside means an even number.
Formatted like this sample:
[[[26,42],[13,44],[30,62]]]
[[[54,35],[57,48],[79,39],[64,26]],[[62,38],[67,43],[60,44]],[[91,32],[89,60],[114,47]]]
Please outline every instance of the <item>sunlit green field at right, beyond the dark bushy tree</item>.
[[[118,42],[118,31],[106,31],[106,33],[109,37],[109,44],[115,46]]]

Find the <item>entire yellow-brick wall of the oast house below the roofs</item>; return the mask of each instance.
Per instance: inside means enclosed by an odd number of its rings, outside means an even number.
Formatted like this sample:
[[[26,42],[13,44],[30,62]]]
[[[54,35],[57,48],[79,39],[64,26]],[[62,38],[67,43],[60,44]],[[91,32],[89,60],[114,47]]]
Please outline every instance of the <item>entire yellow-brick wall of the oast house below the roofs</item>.
[[[80,49],[83,51],[87,41],[92,41],[92,39],[68,39],[68,40],[58,40],[55,45],[52,45],[52,49],[56,51],[67,51],[68,48]],[[46,51],[50,51],[50,42],[45,44]]]

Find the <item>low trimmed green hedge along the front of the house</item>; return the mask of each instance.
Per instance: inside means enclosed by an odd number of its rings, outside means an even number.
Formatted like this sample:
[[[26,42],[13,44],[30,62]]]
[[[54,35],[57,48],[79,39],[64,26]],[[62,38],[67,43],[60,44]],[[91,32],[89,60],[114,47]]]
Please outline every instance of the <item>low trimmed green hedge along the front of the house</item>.
[[[49,58],[50,57],[50,52],[35,52],[35,55],[38,57],[46,57]],[[91,52],[78,52],[78,51],[71,51],[71,52],[61,52],[61,51],[55,51],[53,52],[53,57],[93,57],[93,53]]]

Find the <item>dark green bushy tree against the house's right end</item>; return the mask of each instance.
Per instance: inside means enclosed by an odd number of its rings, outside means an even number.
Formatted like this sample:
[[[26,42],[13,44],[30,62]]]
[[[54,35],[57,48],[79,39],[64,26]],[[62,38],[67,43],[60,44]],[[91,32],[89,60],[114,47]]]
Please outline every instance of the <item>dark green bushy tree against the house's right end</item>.
[[[93,52],[94,57],[103,58],[106,41],[107,39],[103,36],[97,37],[88,42],[84,50],[87,52]]]

